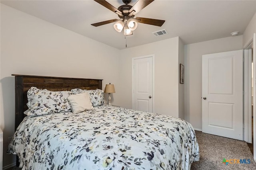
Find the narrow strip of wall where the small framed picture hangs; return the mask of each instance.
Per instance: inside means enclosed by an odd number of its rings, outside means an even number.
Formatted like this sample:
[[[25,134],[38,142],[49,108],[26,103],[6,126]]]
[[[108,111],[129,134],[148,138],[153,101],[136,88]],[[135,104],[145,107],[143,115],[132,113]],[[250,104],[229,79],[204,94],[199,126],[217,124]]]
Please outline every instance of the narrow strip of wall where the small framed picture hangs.
[[[179,38],[179,51],[178,51],[178,82],[180,82],[180,64],[184,65],[184,44]],[[185,69],[185,66],[184,66]],[[185,74],[184,74],[185,76]],[[186,83],[186,82],[184,82]],[[178,85],[179,87],[179,118],[184,119],[185,118],[185,106],[184,106],[184,84]]]

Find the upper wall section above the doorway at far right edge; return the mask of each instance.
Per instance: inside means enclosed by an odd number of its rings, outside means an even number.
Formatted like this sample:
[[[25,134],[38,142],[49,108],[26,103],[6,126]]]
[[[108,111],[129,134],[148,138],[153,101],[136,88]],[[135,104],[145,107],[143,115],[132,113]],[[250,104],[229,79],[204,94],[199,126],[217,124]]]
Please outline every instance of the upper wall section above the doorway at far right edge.
[[[243,47],[245,48],[246,45],[252,40],[253,33],[256,33],[256,13],[252,17],[252,20],[247,25],[244,34],[243,34]]]

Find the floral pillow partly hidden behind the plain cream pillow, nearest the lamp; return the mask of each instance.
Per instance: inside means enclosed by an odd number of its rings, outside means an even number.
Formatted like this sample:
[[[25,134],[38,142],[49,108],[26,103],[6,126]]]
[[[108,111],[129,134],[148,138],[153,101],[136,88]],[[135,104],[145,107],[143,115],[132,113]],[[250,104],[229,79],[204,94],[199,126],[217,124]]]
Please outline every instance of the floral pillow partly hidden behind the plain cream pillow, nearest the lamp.
[[[101,106],[104,104],[104,92],[103,90],[96,89],[96,90],[82,90],[80,88],[75,88],[71,90],[72,94],[80,94],[87,92],[90,97],[90,101],[92,102],[92,106]]]

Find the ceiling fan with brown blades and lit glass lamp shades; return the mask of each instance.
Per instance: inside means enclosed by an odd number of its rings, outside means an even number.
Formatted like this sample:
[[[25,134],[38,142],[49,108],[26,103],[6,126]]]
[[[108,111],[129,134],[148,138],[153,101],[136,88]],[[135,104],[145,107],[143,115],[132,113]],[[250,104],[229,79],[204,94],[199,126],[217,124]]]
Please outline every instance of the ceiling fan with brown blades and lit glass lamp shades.
[[[131,2],[131,0],[122,0],[122,2],[124,2],[125,5],[119,6],[118,9],[116,9],[106,0],[94,0],[94,1],[108,8],[112,12],[118,14],[118,17],[120,18],[120,19],[113,19],[113,20],[102,21],[102,22],[91,24],[95,27],[98,27],[100,25],[105,25],[107,23],[116,22],[114,24],[114,29],[116,29],[116,31],[121,32],[122,29],[124,29],[124,35],[132,35],[132,31],[134,31],[137,28],[138,23],[146,23],[146,24],[156,25],[161,27],[165,22],[165,20],[156,20],[152,18],[142,18],[142,17],[134,18],[135,15],[138,12],[140,12],[140,10],[148,6],[154,0],[138,0],[136,4],[134,4],[134,6],[128,5]]]

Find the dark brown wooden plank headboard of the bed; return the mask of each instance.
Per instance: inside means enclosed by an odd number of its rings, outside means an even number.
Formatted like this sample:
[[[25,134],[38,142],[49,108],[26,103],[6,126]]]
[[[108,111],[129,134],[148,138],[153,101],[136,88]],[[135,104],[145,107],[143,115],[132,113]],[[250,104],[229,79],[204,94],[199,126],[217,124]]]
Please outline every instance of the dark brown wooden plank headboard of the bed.
[[[50,77],[50,76],[15,76],[15,130],[22,122],[24,111],[28,109],[27,92],[31,87],[47,89],[50,91],[70,91],[73,88],[86,90],[102,89],[102,80],[88,78],[66,78],[66,77]]]

